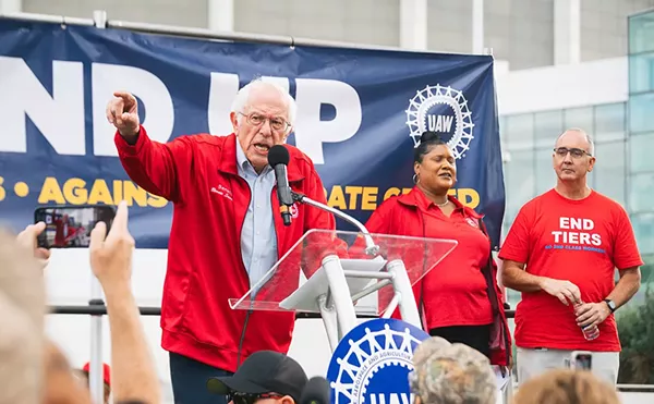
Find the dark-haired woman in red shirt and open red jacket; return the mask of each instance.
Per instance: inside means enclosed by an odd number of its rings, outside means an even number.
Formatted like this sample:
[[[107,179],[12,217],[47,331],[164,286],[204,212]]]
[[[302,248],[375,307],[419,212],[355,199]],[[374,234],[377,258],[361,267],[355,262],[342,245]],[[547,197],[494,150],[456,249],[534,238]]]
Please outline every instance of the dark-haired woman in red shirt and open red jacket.
[[[457,179],[455,157],[437,134],[425,132],[413,169],[413,189],[386,199],[366,228],[378,234],[456,240],[457,247],[413,286],[423,325],[431,335],[509,366],[511,342],[491,240],[482,216],[448,196]]]

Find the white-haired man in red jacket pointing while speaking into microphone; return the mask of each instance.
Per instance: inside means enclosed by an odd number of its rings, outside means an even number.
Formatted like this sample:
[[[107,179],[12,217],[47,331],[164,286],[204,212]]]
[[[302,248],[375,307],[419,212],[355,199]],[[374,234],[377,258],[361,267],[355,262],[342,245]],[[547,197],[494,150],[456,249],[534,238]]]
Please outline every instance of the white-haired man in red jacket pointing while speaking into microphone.
[[[286,143],[295,119],[293,98],[254,81],[237,95],[228,136],[197,134],[161,144],[141,125],[136,98],[116,93],[107,119],[117,127],[120,161],[132,181],[174,204],[161,303],[161,346],[170,354],[175,403],[216,403],[206,381],[228,376],[252,353],[288,352],[292,313],[232,310],[310,229],[336,227],[308,206],[284,227],[268,150]],[[311,159],[287,146],[293,191],[326,204]],[[299,273],[296,274],[299,279]],[[219,402],[219,401],[218,401]]]

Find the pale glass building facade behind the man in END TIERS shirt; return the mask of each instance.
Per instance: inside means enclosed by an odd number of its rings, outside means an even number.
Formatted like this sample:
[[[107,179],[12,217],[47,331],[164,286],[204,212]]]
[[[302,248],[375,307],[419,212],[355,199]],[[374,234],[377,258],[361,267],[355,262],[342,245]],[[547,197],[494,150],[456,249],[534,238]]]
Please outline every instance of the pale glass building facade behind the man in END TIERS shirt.
[[[650,332],[642,321],[639,323],[634,313],[647,304],[647,294],[654,296],[654,10],[630,16],[628,26],[627,102],[500,118],[507,193],[502,233],[506,236],[524,203],[555,185],[552,152],[556,136],[570,127],[591,134],[597,161],[589,177],[590,186],[627,209],[645,261],[640,291],[616,314],[623,348],[618,382],[653,384],[654,364],[646,370],[651,376],[642,378],[633,376],[628,363],[629,357],[650,355],[641,353],[642,347],[634,342],[646,341],[649,338],[642,334]],[[520,293],[507,292],[511,307],[516,308]],[[649,305],[654,305],[652,297]]]

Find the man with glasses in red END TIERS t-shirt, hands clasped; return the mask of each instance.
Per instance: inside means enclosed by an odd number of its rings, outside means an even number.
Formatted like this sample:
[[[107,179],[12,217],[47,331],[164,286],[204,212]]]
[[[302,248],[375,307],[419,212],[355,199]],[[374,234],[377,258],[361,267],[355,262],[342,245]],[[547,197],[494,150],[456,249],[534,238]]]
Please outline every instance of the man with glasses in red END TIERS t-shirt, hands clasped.
[[[638,291],[643,261],[625,209],[586,185],[593,152],[581,130],[559,136],[555,188],[520,209],[499,253],[504,285],[522,292],[514,335],[520,382],[565,367],[572,351],[591,351],[593,372],[617,382],[613,313]],[[594,326],[600,335],[589,341],[582,327]]]

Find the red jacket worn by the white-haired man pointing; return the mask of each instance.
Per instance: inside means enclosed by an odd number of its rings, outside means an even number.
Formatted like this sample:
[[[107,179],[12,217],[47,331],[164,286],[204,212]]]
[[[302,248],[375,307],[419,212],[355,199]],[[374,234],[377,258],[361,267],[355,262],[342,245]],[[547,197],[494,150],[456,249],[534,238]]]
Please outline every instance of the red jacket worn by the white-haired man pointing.
[[[161,302],[161,346],[228,371],[235,371],[237,363],[256,351],[287,353],[293,313],[249,313],[231,309],[228,302],[251,287],[241,257],[241,228],[251,192],[238,174],[235,135],[197,134],[161,144],[152,140],[142,126],[135,145],[118,132],[114,143],[132,181],[174,204]],[[313,162],[295,147],[287,147],[291,188],[326,204]],[[276,187],[270,198],[274,208],[279,206]],[[274,215],[278,257],[305,231],[336,228],[331,213],[295,206],[289,227],[280,215]],[[299,278],[299,272],[288,277],[286,289],[298,287],[293,282]]]

